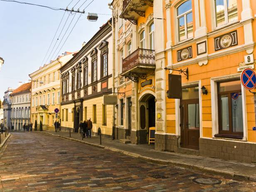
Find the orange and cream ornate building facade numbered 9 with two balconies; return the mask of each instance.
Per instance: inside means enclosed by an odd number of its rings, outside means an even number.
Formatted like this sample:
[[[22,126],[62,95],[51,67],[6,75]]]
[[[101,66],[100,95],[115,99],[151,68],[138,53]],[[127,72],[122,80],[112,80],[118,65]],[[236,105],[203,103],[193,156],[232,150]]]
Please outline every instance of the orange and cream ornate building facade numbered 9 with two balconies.
[[[125,93],[119,94],[117,139],[145,143],[154,126],[157,150],[256,162],[254,97],[240,81],[241,71],[255,65],[256,2],[114,0],[112,5],[115,82]],[[167,97],[169,74],[181,75],[181,99]]]

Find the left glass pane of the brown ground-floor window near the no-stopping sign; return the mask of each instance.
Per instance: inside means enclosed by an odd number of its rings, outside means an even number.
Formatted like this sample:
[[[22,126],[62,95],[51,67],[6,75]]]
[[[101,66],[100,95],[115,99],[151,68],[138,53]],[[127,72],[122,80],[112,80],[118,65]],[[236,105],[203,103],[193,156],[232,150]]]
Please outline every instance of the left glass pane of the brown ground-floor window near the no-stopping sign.
[[[221,125],[223,131],[229,131],[229,98],[227,95],[220,96],[221,102]]]

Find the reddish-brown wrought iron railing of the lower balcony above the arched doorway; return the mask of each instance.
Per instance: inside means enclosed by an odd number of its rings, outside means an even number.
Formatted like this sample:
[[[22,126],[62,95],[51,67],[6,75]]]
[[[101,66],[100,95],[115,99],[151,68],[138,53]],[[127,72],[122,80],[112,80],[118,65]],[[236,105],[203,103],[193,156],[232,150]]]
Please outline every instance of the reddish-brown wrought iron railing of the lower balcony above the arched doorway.
[[[123,73],[134,66],[155,66],[155,51],[150,49],[140,49],[133,51],[123,59]]]

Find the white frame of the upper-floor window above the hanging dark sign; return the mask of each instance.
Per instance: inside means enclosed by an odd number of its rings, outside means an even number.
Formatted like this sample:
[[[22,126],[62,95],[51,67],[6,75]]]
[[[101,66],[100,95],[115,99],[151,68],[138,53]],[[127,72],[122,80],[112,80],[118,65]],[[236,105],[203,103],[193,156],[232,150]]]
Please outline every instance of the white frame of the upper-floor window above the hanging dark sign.
[[[184,12],[184,13],[182,13],[182,14],[180,14],[180,15],[177,15],[177,13],[178,13],[178,8],[180,7],[180,5],[182,5],[182,4],[185,3],[186,1],[187,1],[187,0],[182,1],[179,5],[177,5],[177,7],[176,7],[176,9],[175,9],[176,26],[177,26],[177,29],[176,29],[177,32],[176,32],[176,34],[177,34],[177,42],[178,42],[178,43],[183,42],[183,41],[187,41],[187,40],[189,40],[189,39],[193,39],[193,37],[187,38],[187,17],[186,17],[190,12],[192,12],[192,7],[193,7],[193,5],[191,5],[191,10],[187,10],[186,12]],[[191,1],[191,4],[192,4],[192,1]],[[192,13],[192,15],[193,15],[193,13]],[[179,18],[180,18],[180,17],[183,17],[183,16],[184,16],[184,26],[185,26],[185,39],[182,40],[182,41],[180,41]]]

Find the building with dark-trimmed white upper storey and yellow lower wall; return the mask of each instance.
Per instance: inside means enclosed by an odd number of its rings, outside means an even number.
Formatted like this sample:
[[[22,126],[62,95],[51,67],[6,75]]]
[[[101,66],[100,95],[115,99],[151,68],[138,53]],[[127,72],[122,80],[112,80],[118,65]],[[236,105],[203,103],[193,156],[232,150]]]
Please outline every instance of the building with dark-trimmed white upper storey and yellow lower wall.
[[[79,132],[79,123],[91,119],[92,134],[101,128],[101,134],[111,138],[114,105],[103,101],[114,92],[111,20],[60,71],[62,130]]]

